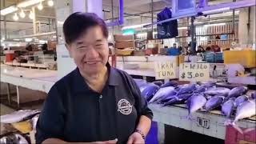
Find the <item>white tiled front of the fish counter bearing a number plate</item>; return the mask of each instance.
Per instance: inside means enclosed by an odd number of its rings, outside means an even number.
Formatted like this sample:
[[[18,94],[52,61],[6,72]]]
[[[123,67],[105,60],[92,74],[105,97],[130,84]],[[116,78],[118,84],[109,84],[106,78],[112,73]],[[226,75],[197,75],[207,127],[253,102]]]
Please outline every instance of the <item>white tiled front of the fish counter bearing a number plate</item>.
[[[205,134],[214,138],[225,139],[226,118],[218,110],[210,112],[198,111],[191,114],[191,120],[187,119],[188,111],[186,105],[160,106],[150,104],[155,122],[161,122],[169,126],[175,126],[184,130],[190,130],[198,134]],[[246,118],[237,122],[237,126],[242,128],[252,128],[256,126],[256,118]]]

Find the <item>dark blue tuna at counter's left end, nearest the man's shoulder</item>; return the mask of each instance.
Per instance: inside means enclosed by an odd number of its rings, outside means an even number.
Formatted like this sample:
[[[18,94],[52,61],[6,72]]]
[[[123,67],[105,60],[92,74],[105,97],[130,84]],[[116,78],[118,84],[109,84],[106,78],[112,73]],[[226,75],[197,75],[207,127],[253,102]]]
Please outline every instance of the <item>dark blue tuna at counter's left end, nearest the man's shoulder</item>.
[[[147,101],[150,101],[154,94],[159,90],[159,86],[154,83],[149,83],[145,87],[146,88],[142,90],[142,96],[146,98]]]

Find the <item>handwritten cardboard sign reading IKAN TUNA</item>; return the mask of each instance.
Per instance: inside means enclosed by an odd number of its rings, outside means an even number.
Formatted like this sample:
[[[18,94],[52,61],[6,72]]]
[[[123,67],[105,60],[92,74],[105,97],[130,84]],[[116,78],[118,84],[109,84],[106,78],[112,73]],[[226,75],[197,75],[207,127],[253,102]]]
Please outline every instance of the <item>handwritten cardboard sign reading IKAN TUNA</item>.
[[[154,62],[155,79],[172,79],[176,78],[177,66],[175,62]]]

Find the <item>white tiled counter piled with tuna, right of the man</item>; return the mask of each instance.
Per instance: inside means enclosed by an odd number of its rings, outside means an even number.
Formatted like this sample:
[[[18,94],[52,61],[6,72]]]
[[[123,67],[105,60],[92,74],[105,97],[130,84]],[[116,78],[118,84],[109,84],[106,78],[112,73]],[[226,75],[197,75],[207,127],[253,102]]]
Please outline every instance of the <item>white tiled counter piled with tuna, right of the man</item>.
[[[160,134],[164,134],[164,124],[223,140],[227,126],[241,134],[255,130],[256,93],[246,86],[229,89],[214,82],[135,82],[154,113]]]

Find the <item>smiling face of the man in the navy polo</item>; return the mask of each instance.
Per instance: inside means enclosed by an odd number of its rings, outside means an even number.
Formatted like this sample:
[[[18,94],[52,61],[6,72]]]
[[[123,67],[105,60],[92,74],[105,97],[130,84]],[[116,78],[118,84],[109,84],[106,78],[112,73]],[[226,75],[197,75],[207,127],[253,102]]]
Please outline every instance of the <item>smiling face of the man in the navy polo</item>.
[[[78,69],[86,74],[97,74],[108,61],[108,43],[99,26],[90,27],[67,48]]]

